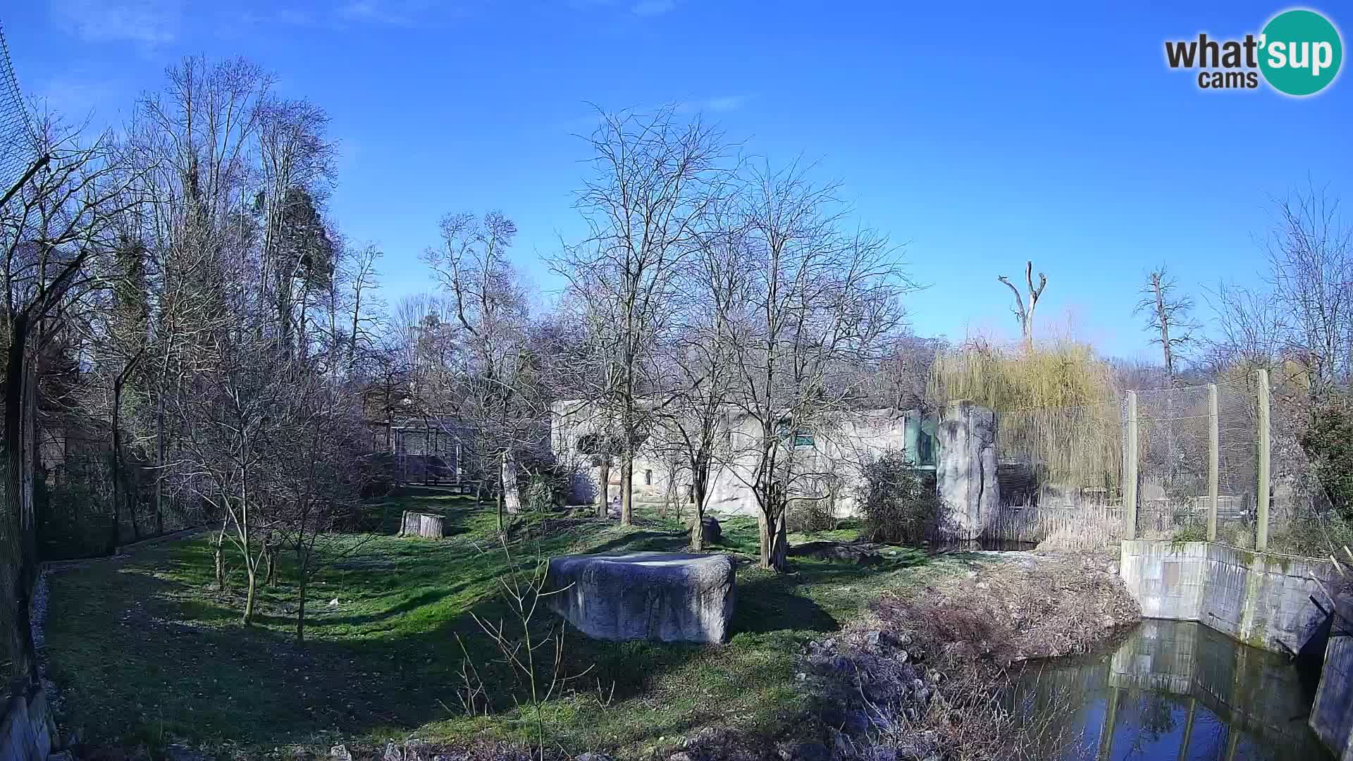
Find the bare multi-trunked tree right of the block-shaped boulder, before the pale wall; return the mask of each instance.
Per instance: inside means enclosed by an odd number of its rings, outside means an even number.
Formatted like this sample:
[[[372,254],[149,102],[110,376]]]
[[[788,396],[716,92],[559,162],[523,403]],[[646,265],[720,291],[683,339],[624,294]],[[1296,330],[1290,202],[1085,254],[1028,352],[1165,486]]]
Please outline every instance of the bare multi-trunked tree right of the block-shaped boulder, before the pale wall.
[[[762,566],[782,569],[789,500],[827,475],[816,439],[851,409],[911,283],[886,238],[843,230],[835,187],[813,186],[802,168],[756,172],[744,194],[747,279],[733,339],[741,420],[729,436],[743,467],[732,473],[756,497]]]

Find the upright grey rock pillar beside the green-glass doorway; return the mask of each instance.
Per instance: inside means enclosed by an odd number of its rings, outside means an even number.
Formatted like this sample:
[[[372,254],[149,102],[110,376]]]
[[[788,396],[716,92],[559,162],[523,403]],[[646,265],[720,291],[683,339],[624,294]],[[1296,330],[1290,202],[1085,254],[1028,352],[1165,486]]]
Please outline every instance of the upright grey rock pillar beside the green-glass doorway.
[[[940,410],[939,460],[935,467],[939,498],[948,508],[955,539],[978,539],[996,517],[1000,486],[996,479],[996,413],[969,401]]]

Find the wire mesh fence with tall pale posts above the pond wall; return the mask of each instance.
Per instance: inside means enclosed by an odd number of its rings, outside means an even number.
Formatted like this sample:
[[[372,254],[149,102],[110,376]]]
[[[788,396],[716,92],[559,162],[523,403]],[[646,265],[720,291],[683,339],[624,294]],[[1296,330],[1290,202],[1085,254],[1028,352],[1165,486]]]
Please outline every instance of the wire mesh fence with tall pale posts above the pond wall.
[[[1101,405],[997,413],[1001,505],[985,538],[1207,538],[1265,550],[1270,524],[1311,506],[1299,437],[1270,408],[1261,370]]]

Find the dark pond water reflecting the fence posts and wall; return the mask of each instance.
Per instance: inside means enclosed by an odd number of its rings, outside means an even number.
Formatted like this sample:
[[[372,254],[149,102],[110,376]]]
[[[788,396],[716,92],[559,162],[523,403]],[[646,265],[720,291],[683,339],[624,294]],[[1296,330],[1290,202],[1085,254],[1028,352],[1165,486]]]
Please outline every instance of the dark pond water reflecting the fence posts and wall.
[[[1026,664],[1015,712],[1065,749],[1049,757],[1333,761],[1306,723],[1315,678],[1197,623],[1146,620],[1109,651]]]

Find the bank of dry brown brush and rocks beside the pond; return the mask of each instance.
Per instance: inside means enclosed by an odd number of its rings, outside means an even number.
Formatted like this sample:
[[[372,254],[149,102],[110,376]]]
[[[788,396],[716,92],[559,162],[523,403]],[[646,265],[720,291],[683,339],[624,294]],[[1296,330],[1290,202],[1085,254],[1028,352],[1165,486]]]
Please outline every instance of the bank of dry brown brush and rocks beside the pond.
[[[1085,653],[1141,620],[1108,552],[973,554],[969,569],[885,594],[809,643],[800,678],[838,760],[1045,758],[1055,716],[1015,716],[1007,669]]]

